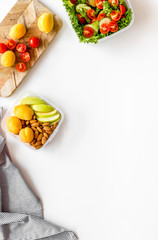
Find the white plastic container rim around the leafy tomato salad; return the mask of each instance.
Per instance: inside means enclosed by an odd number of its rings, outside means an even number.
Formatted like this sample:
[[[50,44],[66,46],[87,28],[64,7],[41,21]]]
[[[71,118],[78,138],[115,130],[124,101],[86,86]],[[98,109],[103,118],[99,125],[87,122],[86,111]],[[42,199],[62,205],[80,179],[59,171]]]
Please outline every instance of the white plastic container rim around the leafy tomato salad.
[[[115,32],[115,33],[113,33],[113,34],[111,34],[111,35],[109,35],[109,36],[107,36],[107,37],[104,37],[104,38],[99,39],[99,40],[98,40],[98,43],[99,43],[99,42],[103,42],[103,41],[105,41],[105,40],[107,40],[107,39],[109,39],[109,38],[112,38],[112,37],[114,37],[114,36],[116,36],[116,35],[118,35],[118,34],[121,34],[122,32],[125,32],[126,30],[130,29],[130,28],[132,27],[132,25],[134,24],[135,14],[134,14],[134,11],[133,11],[132,4],[131,4],[130,0],[125,0],[125,2],[126,2],[126,4],[127,4],[128,9],[131,9],[131,10],[132,10],[132,20],[131,20],[130,24],[129,24],[127,27],[121,29],[120,31],[117,31],[117,32]],[[63,7],[64,7],[64,6],[63,6]],[[64,7],[64,8],[65,8],[65,7]],[[66,12],[66,9],[65,9],[65,12]],[[69,16],[68,16],[67,12],[66,12],[66,14],[65,14],[65,17],[66,17],[66,20],[67,20],[69,26],[70,26],[71,29],[75,32],[75,30],[74,30],[73,27],[72,27],[72,24],[71,24],[71,21],[70,21],[70,18],[69,18]],[[77,39],[79,40],[76,32],[75,32],[75,36],[76,36]],[[94,43],[93,43],[93,44],[94,44]]]

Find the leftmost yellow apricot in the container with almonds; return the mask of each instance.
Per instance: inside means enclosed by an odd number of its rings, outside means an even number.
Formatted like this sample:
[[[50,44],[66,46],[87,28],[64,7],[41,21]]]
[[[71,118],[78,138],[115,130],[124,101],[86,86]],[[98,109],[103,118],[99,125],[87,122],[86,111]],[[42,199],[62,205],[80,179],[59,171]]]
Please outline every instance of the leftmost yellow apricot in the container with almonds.
[[[8,117],[7,128],[10,132],[18,134],[22,128],[21,121],[17,117]]]

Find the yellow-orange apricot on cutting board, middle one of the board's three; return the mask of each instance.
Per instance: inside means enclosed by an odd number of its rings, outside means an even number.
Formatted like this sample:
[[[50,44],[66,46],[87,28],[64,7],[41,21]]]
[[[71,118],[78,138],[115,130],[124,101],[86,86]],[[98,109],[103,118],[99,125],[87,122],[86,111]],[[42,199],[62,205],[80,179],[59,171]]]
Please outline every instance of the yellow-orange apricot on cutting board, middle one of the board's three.
[[[23,23],[15,24],[10,30],[10,37],[13,39],[20,39],[26,33],[26,27]]]

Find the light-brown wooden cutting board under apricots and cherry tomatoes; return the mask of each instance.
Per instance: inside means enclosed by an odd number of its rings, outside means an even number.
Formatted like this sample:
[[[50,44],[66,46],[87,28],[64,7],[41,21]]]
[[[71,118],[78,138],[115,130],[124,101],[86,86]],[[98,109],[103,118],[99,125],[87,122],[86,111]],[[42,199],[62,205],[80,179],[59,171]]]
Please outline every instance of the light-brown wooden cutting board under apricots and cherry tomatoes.
[[[42,33],[37,25],[39,16],[47,12],[53,15],[55,22],[54,28],[49,34]],[[41,44],[38,48],[29,49],[31,60],[27,63],[27,70],[23,73],[16,70],[16,64],[20,61],[18,55],[14,66],[5,68],[0,64],[0,97],[8,97],[14,92],[62,27],[61,19],[39,1],[18,0],[0,23],[0,42],[6,43],[10,39],[9,31],[16,23],[24,23],[27,28],[26,35],[18,41],[19,43],[28,45],[30,37],[36,36],[40,38]]]

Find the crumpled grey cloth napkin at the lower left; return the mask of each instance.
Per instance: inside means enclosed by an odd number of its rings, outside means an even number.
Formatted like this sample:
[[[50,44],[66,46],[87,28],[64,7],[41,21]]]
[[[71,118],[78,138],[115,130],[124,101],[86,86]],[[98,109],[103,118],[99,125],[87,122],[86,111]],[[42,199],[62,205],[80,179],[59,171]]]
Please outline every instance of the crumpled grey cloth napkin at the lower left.
[[[2,108],[0,108],[0,118]],[[39,198],[12,163],[0,134],[0,240],[76,240],[74,233],[42,219]]]

